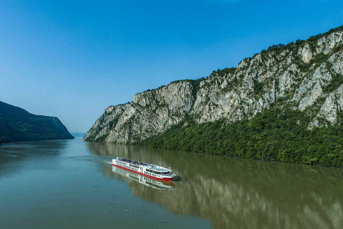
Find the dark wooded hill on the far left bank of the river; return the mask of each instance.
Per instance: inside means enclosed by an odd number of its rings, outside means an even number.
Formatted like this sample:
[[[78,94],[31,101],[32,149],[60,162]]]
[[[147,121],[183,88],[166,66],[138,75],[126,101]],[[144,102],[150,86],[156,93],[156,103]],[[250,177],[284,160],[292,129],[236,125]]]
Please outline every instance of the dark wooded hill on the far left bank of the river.
[[[0,101],[0,143],[74,139],[57,117],[36,115]]]

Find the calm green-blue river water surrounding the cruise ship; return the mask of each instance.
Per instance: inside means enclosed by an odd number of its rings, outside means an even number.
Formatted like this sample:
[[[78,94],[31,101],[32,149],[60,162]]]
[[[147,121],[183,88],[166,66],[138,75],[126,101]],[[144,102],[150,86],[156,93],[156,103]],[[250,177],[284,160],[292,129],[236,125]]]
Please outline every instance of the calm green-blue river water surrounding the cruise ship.
[[[158,182],[115,156],[171,167]],[[0,146],[0,228],[343,228],[343,170],[74,140]]]

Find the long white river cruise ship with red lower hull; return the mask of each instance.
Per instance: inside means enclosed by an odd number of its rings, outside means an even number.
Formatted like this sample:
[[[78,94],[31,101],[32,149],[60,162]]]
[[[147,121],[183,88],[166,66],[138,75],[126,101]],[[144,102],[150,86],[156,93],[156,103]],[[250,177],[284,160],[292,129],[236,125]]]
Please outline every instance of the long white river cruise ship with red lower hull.
[[[168,169],[162,166],[144,163],[140,161],[133,161],[122,157],[117,157],[117,159],[113,159],[112,165],[125,168],[126,170],[130,170],[132,172],[162,181],[172,181],[176,176],[176,174],[173,173],[172,170],[170,170],[170,167]]]

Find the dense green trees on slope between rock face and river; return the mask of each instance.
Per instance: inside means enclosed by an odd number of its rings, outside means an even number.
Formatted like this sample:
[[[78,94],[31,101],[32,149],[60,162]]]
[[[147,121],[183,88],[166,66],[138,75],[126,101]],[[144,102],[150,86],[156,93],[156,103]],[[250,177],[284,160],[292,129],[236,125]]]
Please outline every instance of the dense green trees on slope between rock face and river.
[[[279,108],[231,124],[225,124],[225,120],[197,124],[188,118],[159,136],[134,144],[342,167],[343,125],[308,129],[310,120],[299,110]]]

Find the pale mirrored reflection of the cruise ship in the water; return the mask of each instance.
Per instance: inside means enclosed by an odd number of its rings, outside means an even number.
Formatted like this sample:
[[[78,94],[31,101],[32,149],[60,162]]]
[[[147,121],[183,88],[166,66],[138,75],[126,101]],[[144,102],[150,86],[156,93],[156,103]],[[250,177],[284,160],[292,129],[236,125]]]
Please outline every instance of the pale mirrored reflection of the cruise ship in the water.
[[[134,172],[130,172],[128,170],[125,170],[123,168],[119,168],[116,166],[112,166],[112,172],[119,174],[123,177],[128,177],[134,181],[136,181],[137,183],[140,183],[142,185],[145,186],[149,186],[155,189],[159,189],[159,190],[174,190],[175,185],[173,184],[173,182],[171,181],[156,181],[152,178],[134,173]]]

